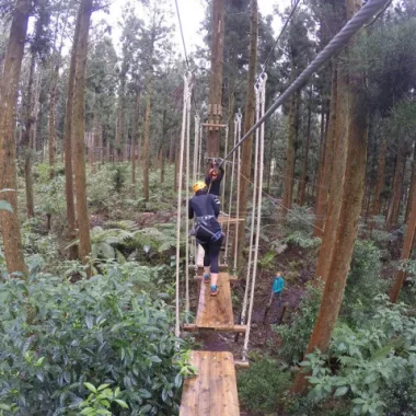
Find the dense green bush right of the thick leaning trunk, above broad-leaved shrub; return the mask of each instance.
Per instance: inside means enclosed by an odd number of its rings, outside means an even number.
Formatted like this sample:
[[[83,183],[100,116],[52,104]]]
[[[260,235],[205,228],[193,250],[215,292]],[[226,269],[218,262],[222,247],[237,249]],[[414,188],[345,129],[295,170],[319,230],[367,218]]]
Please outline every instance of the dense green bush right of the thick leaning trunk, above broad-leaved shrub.
[[[380,257],[381,252],[372,242],[357,240],[340,312],[351,323],[366,320],[366,314],[373,311],[374,297],[386,289]]]

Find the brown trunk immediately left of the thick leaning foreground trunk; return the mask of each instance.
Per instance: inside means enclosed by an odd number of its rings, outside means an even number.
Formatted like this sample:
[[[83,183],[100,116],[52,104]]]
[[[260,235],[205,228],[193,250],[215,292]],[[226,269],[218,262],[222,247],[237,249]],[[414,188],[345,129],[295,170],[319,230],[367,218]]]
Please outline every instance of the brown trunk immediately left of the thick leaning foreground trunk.
[[[337,71],[338,63],[333,63],[333,70]],[[325,229],[316,263],[316,278],[326,281],[328,278],[331,259],[335,246],[337,226],[343,204],[343,186],[346,174],[347,152],[348,152],[348,85],[346,80],[337,76],[337,92],[334,109],[336,112],[335,123],[335,151],[336,163],[334,163],[331,174],[331,193],[327,206]]]

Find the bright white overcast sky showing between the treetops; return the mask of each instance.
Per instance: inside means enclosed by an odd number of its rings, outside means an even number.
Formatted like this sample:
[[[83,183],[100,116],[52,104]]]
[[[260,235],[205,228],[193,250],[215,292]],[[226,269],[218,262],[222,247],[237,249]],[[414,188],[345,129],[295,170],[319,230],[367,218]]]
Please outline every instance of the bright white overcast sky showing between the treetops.
[[[177,50],[183,55],[182,41],[180,28],[177,24],[177,15],[175,11],[175,0],[172,1],[173,19],[172,23],[175,25],[175,43],[177,44]],[[228,0],[226,0],[228,1]],[[122,18],[123,5],[126,0],[114,0],[109,5],[109,14],[94,13],[93,19],[104,19],[113,26],[113,39],[116,47],[118,46],[120,30],[117,25],[117,21]],[[203,38],[198,34],[200,30],[200,23],[205,18],[205,5],[206,0],[177,0],[182,26],[184,30],[184,37],[187,53],[195,50],[196,45],[203,44]],[[285,10],[285,8],[290,5],[290,0],[258,0],[258,10],[263,15],[273,14],[274,5],[279,5],[279,11]],[[281,21],[279,16],[275,16],[273,27],[278,32],[281,27]],[[119,48],[117,47],[117,50]]]

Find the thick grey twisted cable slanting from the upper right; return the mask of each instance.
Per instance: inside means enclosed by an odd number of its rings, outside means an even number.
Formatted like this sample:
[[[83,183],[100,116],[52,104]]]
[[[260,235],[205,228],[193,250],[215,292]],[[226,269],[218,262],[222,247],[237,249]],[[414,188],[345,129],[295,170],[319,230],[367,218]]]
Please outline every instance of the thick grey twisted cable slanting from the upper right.
[[[348,23],[333,37],[333,39],[325,46],[325,48],[315,57],[315,59],[299,74],[299,77],[286,89],[286,91],[271,104],[263,117],[244,135],[244,137],[229,151],[228,159],[240,146],[253,135],[253,132],[264,123],[267,118],[275,113],[275,111],[285,104],[290,96],[299,91],[324,63],[326,63],[335,54],[349,42],[349,39],[373,16],[381,10],[389,0],[369,0]],[[223,162],[222,162],[223,163]],[[221,164],[222,164],[221,163]]]

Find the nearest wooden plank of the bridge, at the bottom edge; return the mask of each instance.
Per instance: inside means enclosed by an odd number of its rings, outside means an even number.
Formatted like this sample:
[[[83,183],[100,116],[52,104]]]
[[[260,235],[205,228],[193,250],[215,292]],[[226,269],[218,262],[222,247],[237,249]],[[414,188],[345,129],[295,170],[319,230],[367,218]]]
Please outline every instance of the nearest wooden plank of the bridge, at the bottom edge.
[[[190,363],[198,374],[185,380],[180,416],[239,416],[232,354],[193,351]]]

